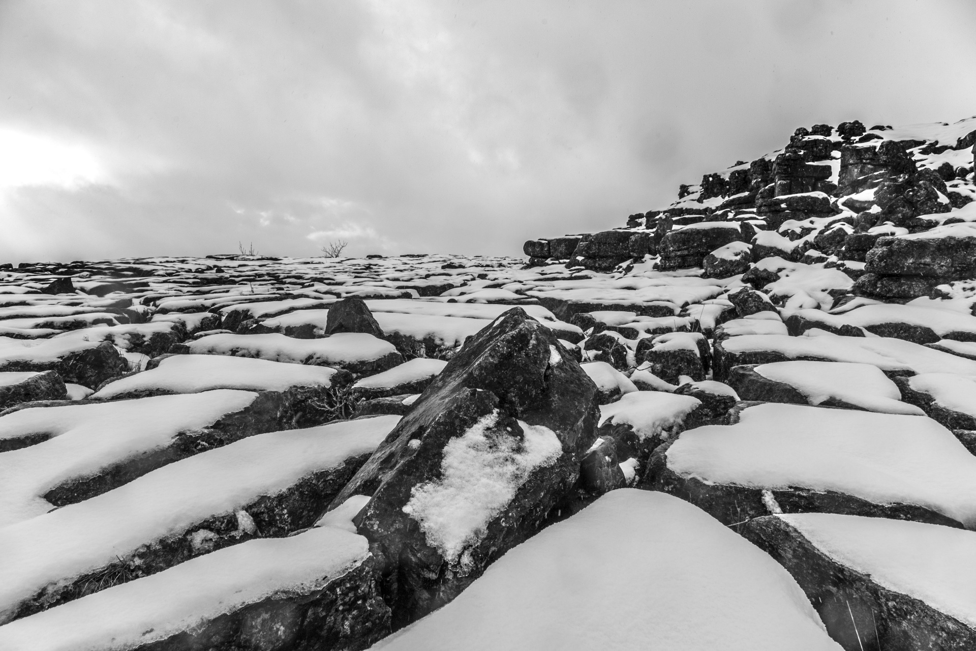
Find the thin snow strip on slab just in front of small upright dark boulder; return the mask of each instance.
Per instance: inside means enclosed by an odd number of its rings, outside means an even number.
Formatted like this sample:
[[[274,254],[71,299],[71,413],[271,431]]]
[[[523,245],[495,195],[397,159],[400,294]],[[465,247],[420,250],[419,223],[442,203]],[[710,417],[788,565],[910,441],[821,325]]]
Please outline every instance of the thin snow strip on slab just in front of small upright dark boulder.
[[[340,367],[396,352],[389,342],[358,332],[336,333],[325,339],[294,339],[279,334],[209,335],[187,346],[193,354],[259,357],[290,364]]]

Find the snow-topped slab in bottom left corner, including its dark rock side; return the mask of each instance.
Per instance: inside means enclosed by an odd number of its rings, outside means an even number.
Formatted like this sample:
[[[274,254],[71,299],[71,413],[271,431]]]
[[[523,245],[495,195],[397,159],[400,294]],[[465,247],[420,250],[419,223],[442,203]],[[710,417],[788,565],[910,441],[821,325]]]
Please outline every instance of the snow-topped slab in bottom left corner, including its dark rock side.
[[[369,544],[338,527],[254,540],[0,627],[9,651],[365,648],[389,631]]]

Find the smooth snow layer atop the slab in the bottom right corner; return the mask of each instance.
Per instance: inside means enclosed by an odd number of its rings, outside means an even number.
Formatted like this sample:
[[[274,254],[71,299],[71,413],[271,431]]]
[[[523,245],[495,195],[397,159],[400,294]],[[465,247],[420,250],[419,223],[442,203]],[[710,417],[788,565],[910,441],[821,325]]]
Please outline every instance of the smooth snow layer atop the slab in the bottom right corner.
[[[976,536],[972,532],[835,513],[777,517],[839,564],[976,628]]]

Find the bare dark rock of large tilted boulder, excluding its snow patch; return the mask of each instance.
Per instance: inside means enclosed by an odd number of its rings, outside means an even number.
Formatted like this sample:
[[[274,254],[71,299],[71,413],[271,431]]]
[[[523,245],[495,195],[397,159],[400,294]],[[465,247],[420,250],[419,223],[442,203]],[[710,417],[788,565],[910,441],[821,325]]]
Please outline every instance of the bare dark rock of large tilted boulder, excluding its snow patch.
[[[594,439],[597,391],[560,350],[548,328],[520,308],[508,310],[448,362],[333,502],[338,507],[351,495],[372,496],[353,521],[381,561],[394,627],[449,601],[570,496],[580,458]],[[534,468],[504,510],[492,511],[463,552],[453,553],[428,538],[404,507],[417,487],[444,480],[445,447],[486,417],[489,435],[515,453],[524,445],[522,421],[554,432],[561,454]],[[431,530],[429,521],[425,526]]]

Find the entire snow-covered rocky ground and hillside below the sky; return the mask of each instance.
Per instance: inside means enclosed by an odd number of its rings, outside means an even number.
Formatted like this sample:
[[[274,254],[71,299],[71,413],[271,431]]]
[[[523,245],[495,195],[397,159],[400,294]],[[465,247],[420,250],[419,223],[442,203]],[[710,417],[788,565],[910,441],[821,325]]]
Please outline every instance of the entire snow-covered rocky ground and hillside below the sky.
[[[800,128],[528,260],[0,264],[0,649],[974,648],[974,146]]]

